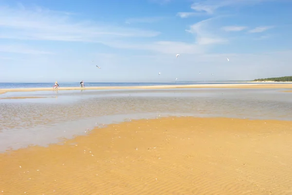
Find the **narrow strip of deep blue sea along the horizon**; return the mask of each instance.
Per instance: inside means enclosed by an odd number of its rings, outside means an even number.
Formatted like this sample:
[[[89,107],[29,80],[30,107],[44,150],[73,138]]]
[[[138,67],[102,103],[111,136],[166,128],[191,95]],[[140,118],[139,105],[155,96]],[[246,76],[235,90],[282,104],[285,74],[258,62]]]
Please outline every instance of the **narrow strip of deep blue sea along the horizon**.
[[[106,86],[149,86],[149,85],[190,85],[190,84],[220,84],[226,82],[89,82],[85,83],[87,87],[106,87]],[[236,83],[247,83],[247,82],[228,82],[230,84]],[[9,88],[42,88],[42,87],[52,87],[54,83],[1,83],[0,89]],[[60,87],[79,87],[79,82],[65,82],[59,83]]]

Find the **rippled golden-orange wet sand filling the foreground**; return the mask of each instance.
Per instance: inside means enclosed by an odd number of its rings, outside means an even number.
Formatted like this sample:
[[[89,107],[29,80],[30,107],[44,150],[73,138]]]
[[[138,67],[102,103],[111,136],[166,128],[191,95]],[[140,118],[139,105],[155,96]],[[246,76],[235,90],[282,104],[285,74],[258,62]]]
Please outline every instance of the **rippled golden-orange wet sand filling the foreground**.
[[[291,195],[292,121],[165,117],[0,154],[3,195]]]

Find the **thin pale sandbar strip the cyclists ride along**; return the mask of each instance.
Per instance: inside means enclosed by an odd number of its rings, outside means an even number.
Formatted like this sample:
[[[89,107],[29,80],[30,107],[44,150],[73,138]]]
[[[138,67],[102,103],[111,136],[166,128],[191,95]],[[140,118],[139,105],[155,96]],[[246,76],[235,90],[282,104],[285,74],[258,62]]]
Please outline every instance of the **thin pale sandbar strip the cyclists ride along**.
[[[244,88],[244,89],[271,89],[271,88],[292,88],[292,84],[196,84],[196,85],[156,85],[156,86],[129,86],[129,87],[60,87],[57,90],[112,90],[112,89],[174,89],[174,88]],[[15,88],[0,89],[0,94],[6,92],[32,92],[32,91],[55,91],[53,88]]]

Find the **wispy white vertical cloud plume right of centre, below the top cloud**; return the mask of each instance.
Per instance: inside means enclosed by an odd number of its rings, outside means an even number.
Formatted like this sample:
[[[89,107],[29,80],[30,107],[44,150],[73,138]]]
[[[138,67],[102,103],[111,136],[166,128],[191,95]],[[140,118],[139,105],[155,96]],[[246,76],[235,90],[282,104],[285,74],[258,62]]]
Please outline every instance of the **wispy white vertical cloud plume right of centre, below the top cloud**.
[[[189,33],[196,35],[196,42],[199,45],[207,45],[207,44],[219,44],[227,42],[226,39],[220,38],[216,35],[213,35],[211,30],[207,28],[210,26],[209,22],[212,19],[202,20],[198,23],[195,23],[190,26],[190,29],[186,30]]]

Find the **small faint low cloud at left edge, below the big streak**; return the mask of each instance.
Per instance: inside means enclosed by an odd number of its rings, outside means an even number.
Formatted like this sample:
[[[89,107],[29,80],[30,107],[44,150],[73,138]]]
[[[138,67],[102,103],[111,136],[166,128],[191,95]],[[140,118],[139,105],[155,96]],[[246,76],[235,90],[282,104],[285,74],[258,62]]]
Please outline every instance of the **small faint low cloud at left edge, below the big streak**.
[[[0,45],[0,52],[3,53],[17,53],[17,54],[32,54],[32,55],[40,55],[40,54],[53,54],[52,52],[41,51],[37,49],[32,49],[30,47],[24,45]]]

